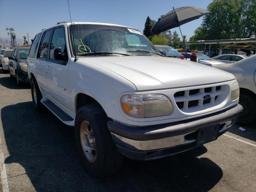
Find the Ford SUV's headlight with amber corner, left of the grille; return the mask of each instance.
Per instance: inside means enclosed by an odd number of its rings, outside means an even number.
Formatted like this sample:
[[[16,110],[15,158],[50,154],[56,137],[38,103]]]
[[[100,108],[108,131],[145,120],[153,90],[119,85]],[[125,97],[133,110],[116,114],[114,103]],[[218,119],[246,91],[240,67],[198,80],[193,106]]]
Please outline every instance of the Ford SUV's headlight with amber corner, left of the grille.
[[[147,118],[170,115],[173,106],[170,100],[161,94],[123,95],[123,112],[135,118]]]

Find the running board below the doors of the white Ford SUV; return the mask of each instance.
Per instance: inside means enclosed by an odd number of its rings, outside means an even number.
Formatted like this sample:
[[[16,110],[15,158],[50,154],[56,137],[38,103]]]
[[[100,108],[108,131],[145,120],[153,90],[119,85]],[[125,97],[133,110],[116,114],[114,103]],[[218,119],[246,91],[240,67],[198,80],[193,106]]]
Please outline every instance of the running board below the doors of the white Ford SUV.
[[[74,121],[74,119],[72,117],[70,117],[68,114],[66,114],[65,112],[63,112],[60,108],[58,108],[53,102],[51,102],[50,100],[44,100],[42,101],[42,104],[44,104],[54,115],[56,115],[62,122],[64,122],[65,124],[68,124],[70,126],[72,126],[72,122]]]

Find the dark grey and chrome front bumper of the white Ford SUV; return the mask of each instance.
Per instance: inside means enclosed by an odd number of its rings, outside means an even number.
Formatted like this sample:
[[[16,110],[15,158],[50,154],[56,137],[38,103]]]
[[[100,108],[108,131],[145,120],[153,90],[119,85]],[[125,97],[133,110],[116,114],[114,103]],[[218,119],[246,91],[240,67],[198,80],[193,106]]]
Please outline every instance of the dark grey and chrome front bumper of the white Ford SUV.
[[[108,129],[124,156],[135,160],[152,160],[216,140],[236,123],[242,110],[242,106],[237,104],[232,108],[199,118],[154,126],[130,126],[109,121]],[[217,129],[216,136],[211,135],[211,131],[206,132],[210,129]],[[204,131],[207,138],[205,140],[200,136]]]

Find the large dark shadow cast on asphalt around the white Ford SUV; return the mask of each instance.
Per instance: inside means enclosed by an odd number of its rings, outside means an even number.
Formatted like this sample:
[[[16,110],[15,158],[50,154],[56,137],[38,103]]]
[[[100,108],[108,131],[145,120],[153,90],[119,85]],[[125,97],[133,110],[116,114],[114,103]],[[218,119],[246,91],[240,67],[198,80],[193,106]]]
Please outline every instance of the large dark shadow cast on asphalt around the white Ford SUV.
[[[116,176],[94,179],[86,174],[79,159],[73,128],[64,125],[50,111],[36,112],[32,102],[24,102],[2,108],[1,118],[10,153],[5,163],[20,164],[39,192],[203,192],[222,178],[217,164],[208,158],[197,158],[207,152],[202,146],[159,160],[126,159]],[[8,172],[10,176],[14,175]]]

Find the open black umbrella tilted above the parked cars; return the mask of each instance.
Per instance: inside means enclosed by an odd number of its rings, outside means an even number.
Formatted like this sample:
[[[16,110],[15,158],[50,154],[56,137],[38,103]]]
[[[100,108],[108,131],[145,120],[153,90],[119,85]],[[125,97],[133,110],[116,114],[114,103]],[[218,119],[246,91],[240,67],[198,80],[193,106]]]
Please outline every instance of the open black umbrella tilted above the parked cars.
[[[151,35],[159,34],[175,27],[180,27],[180,25],[198,19],[206,13],[209,13],[209,11],[199,7],[173,8],[173,10],[165,14],[158,20],[158,22],[156,22],[151,31]]]

